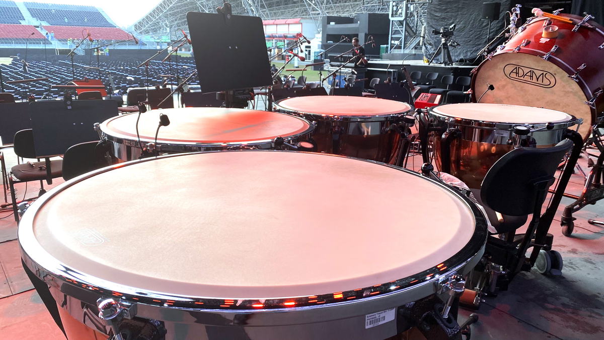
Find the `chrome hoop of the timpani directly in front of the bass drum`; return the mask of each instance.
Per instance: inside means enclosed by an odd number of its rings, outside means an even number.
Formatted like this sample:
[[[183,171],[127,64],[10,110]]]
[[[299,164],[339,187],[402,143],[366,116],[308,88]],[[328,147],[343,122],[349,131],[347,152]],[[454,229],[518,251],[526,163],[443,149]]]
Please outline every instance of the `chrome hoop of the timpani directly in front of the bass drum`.
[[[468,128],[512,131],[514,129],[514,126],[530,126],[531,128],[541,128],[541,127],[547,125],[547,123],[548,123],[548,122],[545,122],[545,123],[509,123],[509,122],[492,122],[489,120],[475,120],[475,119],[464,119],[464,118],[458,119],[453,116],[447,116],[446,114],[434,112],[434,108],[438,108],[438,107],[439,106],[433,106],[431,108],[428,108],[429,116],[434,117],[435,119],[440,120],[442,122],[453,123],[454,125],[466,126]],[[570,114],[568,116],[571,116],[571,119],[565,120],[564,122],[553,123],[554,128],[552,130],[565,129],[570,126],[576,125],[577,118]],[[477,124],[480,124],[480,125],[477,125]],[[506,127],[506,125],[509,125],[509,127]],[[552,130],[545,130],[545,131],[552,131]]]

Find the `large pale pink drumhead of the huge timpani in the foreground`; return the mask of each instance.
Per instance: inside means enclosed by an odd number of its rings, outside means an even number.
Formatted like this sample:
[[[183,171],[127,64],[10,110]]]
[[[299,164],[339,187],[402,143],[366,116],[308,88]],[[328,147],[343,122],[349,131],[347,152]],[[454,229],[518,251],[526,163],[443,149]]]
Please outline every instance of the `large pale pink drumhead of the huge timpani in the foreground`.
[[[405,278],[475,232],[447,189],[373,162],[222,151],[125,164],[36,201],[19,228],[28,257],[97,286],[272,298]]]

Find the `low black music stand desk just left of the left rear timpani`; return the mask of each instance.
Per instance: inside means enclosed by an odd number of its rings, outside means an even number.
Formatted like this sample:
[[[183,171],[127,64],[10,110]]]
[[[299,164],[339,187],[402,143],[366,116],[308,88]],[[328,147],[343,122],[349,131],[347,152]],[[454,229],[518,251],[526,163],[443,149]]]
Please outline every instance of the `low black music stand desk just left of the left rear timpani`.
[[[94,123],[117,116],[115,100],[74,100],[30,103],[36,157],[65,154],[72,145],[99,140]]]

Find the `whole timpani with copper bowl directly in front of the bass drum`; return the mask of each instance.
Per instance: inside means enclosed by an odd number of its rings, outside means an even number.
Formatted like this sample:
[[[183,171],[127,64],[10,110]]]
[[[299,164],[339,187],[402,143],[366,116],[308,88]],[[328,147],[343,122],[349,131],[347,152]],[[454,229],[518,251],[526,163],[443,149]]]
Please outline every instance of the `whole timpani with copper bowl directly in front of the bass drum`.
[[[532,138],[523,146],[547,148],[561,142],[566,129],[577,123],[575,117],[560,111],[489,103],[434,106],[428,109],[428,116],[441,128],[440,131],[445,131],[445,134],[434,133],[437,168],[460,178],[474,189],[480,188],[496,160],[515,147],[515,126],[532,130],[542,128],[532,132]],[[545,128],[547,123],[553,123],[553,128]],[[457,134],[453,134],[454,131]]]

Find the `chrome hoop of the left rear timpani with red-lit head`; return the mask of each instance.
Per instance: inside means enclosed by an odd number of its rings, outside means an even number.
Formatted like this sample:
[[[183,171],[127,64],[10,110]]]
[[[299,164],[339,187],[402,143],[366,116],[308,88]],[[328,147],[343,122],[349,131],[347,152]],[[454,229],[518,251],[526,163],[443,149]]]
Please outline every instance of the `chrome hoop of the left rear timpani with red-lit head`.
[[[304,123],[306,123],[306,125],[308,125],[308,128],[306,130],[304,130],[302,132],[298,132],[297,134],[278,136],[278,137],[283,137],[283,139],[286,141],[294,140],[294,139],[297,139],[297,138],[300,138],[303,136],[310,135],[310,134],[312,134],[312,132],[315,129],[315,125],[313,125],[313,123],[309,122],[308,120],[304,119],[303,117],[296,117],[296,116],[292,116],[291,114],[284,114],[284,113],[280,113],[280,112],[274,112],[274,113],[300,119]],[[110,132],[111,129],[109,129],[109,126],[108,126],[108,124],[111,123],[112,120],[115,120],[115,119],[118,119],[118,118],[124,117],[124,116],[129,116],[130,114],[137,114],[137,113],[129,113],[129,114],[123,114],[121,116],[111,117],[108,120],[105,120],[103,123],[101,123],[99,128],[102,132],[103,137],[107,140],[111,140],[112,142],[115,142],[118,144],[124,144],[127,146],[134,146],[134,147],[140,148],[138,139],[133,138],[132,136],[126,136],[126,135],[118,133],[118,132],[114,132],[114,131]],[[194,148],[203,148],[203,147],[213,148],[213,147],[220,147],[220,146],[235,146],[235,145],[257,146],[257,145],[263,145],[266,143],[274,142],[274,140],[275,139],[262,139],[262,140],[243,141],[243,142],[213,142],[213,143],[199,142],[199,143],[197,143],[197,142],[188,142],[188,141],[174,142],[172,140],[162,140],[162,139],[158,138],[156,145],[164,146],[164,149],[162,149],[162,151],[170,151],[170,150],[166,149],[165,146],[170,146],[170,145],[172,145],[172,146],[191,146]],[[150,142],[155,143],[155,139],[141,137],[141,143],[146,144],[146,143],[150,143]]]

